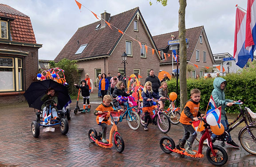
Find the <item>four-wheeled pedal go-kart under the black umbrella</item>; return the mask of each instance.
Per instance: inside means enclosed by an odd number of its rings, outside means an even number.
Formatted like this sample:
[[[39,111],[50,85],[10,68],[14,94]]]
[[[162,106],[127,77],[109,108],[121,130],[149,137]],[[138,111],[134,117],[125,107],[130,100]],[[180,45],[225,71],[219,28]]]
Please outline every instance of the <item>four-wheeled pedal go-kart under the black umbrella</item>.
[[[47,117],[41,117],[42,112],[36,112],[36,120],[33,120],[31,123],[32,135],[34,137],[38,137],[40,134],[40,126],[46,127],[43,129],[43,132],[51,131],[54,132],[55,128],[52,126],[59,125],[60,132],[65,135],[68,132],[68,122],[67,118],[65,118],[65,113],[62,110],[57,111],[60,115],[60,120],[52,120],[51,118],[51,109],[54,107],[53,104],[56,104],[53,100],[47,100],[45,102],[46,107],[49,109],[49,114]]]

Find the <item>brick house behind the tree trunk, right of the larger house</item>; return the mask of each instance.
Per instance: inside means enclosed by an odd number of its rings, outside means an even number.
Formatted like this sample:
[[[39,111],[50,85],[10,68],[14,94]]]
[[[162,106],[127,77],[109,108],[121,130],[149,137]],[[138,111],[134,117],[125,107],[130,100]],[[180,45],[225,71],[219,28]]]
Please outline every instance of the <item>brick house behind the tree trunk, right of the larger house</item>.
[[[174,31],[162,35],[153,36],[154,42],[157,45],[159,51],[171,54],[172,51],[169,50],[168,41],[178,39],[179,31]],[[191,78],[195,78],[197,74],[204,76],[204,66],[213,67],[214,58],[213,53],[208,42],[204,26],[194,27],[186,29],[186,38],[189,39],[189,47],[187,48],[187,64],[192,65],[194,69],[192,70]],[[173,37],[173,38],[172,38]],[[172,70],[176,69],[176,61],[170,56],[162,58],[160,61],[160,70],[164,70],[173,73]],[[189,63],[191,62],[191,63]],[[198,65],[198,69],[193,64]],[[189,77],[189,73],[187,73]]]

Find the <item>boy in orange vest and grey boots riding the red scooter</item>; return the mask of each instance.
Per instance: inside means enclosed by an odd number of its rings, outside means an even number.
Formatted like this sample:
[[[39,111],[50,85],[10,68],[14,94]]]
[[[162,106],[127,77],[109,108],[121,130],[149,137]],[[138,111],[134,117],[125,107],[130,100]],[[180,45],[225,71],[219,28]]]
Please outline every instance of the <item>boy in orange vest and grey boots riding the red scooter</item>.
[[[201,99],[201,92],[199,89],[192,89],[190,91],[191,99],[189,99],[183,111],[181,112],[181,118],[180,122],[182,126],[184,127],[184,136],[182,139],[179,140],[179,146],[180,148],[185,148],[185,151],[191,155],[195,155],[196,152],[194,152],[191,149],[191,146],[197,137],[197,132],[192,126],[192,123],[189,123],[191,120],[197,121],[197,117],[203,117],[204,114],[201,114],[199,110],[200,106],[200,99]]]

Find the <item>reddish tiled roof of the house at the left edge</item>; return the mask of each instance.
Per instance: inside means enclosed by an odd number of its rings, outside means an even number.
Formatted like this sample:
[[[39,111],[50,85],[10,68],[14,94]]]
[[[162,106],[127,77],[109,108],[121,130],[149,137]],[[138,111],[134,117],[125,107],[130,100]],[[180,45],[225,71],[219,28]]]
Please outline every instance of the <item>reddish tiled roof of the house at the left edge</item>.
[[[32,23],[27,15],[6,4],[0,4],[0,16],[14,19],[10,21],[12,41],[36,43]]]

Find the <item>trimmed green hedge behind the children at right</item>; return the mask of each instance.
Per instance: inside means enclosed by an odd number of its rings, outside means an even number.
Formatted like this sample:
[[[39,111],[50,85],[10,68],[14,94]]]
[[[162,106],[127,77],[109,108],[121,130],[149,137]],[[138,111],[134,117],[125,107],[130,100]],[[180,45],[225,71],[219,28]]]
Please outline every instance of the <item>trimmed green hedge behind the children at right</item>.
[[[227,86],[224,90],[226,98],[235,101],[241,100],[244,102],[244,106],[249,107],[252,111],[256,111],[256,71],[255,70],[243,70],[240,74],[227,74],[223,77],[227,82]],[[190,98],[190,90],[197,88],[201,91],[200,110],[205,111],[209,102],[209,98],[213,91],[213,80],[209,79],[187,79],[188,99]],[[180,86],[178,82],[178,101]],[[176,79],[172,79],[168,82],[168,92],[176,92]],[[233,105],[227,107],[228,113],[239,113],[239,107]]]

